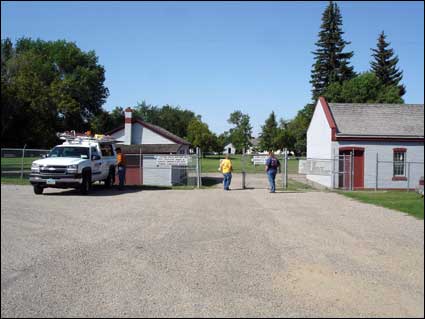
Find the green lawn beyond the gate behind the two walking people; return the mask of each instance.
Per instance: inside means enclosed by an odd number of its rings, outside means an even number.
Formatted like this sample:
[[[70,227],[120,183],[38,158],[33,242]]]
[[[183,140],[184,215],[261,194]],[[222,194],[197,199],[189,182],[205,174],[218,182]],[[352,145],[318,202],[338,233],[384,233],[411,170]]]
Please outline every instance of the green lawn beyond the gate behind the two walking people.
[[[201,158],[201,170],[202,173],[217,173],[218,167],[220,165],[220,159],[223,159],[222,155],[207,155],[206,157]],[[264,165],[255,165],[251,162],[251,156],[247,156],[246,161],[246,172],[247,173],[264,173]],[[232,155],[230,160],[233,165],[234,173],[242,173],[242,155]],[[281,165],[283,165],[282,158],[279,157]],[[298,160],[290,159],[288,161],[288,172],[289,174],[298,173]]]

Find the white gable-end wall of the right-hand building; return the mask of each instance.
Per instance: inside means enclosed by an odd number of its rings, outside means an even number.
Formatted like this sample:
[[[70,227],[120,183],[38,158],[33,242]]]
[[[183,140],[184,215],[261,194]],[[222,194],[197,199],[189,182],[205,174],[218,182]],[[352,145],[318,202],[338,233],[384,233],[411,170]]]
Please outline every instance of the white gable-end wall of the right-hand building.
[[[332,158],[332,130],[320,100],[317,101],[310,125],[307,130],[307,158]],[[307,175],[307,179],[326,187],[332,186],[331,176]]]

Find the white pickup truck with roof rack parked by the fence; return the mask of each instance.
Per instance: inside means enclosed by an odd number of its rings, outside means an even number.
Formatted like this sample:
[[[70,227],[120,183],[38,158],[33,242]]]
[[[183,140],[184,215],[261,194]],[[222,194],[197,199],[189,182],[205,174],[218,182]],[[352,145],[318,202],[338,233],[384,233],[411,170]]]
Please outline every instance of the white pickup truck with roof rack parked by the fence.
[[[115,178],[115,166],[113,141],[68,138],[45,158],[32,162],[29,180],[37,195],[47,187],[77,188],[85,195],[96,181],[103,181],[110,187]]]

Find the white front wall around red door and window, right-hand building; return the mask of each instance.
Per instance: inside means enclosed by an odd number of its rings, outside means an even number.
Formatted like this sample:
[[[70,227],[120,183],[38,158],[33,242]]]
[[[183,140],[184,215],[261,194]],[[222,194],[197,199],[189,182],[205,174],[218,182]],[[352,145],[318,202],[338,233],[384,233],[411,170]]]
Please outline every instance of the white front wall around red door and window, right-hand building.
[[[378,166],[378,188],[415,188],[419,178],[424,175],[424,143],[423,142],[392,142],[392,141],[365,141],[355,142],[340,141],[335,143],[334,154],[338,154],[339,147],[357,146],[363,147],[364,152],[364,187],[375,188],[376,186],[376,154],[379,161]],[[406,161],[417,162],[410,164],[410,172],[406,167],[406,177],[410,181],[393,181],[393,148],[406,148]],[[408,174],[409,173],[409,174]]]

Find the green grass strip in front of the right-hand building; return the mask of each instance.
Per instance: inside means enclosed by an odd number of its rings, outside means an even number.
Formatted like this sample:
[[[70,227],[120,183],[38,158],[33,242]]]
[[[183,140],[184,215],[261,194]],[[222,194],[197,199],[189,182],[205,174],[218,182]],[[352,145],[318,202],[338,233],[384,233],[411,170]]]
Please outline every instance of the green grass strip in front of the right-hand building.
[[[364,203],[391,208],[424,219],[424,198],[415,192],[403,191],[355,191],[340,194]]]

